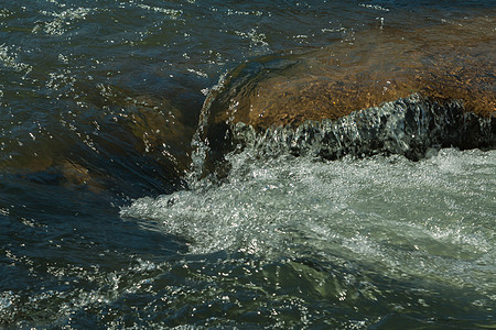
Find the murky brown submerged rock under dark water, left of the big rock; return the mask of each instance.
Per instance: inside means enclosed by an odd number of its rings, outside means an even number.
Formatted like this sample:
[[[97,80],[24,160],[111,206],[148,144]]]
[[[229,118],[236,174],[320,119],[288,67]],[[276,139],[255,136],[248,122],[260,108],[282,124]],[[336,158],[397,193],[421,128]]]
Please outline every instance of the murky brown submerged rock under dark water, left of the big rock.
[[[13,156],[0,158],[0,175],[128,196],[185,186],[182,176],[190,164],[195,120],[184,118],[184,111],[165,98],[136,96],[117,87],[106,87],[105,97],[91,95],[85,101],[98,110],[73,109],[76,119],[61,120],[69,123],[66,127],[23,140]],[[136,187],[137,178],[148,182]]]

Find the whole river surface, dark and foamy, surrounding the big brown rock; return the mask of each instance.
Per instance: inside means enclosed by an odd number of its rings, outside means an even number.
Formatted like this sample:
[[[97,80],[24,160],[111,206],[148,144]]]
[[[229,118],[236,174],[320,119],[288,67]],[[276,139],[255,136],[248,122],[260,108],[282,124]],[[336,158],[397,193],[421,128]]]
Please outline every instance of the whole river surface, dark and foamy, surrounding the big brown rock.
[[[191,154],[246,61],[495,8],[0,0],[0,328],[494,328],[494,150]]]

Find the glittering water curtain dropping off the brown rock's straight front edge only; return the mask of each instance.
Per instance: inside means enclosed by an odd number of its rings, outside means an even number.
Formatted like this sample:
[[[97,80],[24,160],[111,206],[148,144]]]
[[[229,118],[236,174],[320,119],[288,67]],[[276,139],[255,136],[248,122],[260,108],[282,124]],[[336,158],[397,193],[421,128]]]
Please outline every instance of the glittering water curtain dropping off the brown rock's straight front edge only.
[[[278,154],[321,156],[399,154],[420,160],[431,148],[489,148],[496,145],[496,122],[464,113],[459,101],[406,99],[356,111],[337,121],[305,122],[295,130],[271,128],[257,133],[237,123],[231,128],[234,144],[246,145],[269,156]]]

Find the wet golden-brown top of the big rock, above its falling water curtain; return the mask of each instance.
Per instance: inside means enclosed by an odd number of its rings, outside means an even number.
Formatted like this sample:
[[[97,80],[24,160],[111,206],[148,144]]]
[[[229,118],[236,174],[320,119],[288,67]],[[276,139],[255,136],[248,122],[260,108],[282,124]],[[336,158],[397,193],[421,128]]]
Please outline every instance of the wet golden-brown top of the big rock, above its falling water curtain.
[[[256,130],[337,119],[412,92],[496,109],[493,16],[418,30],[374,28],[303,55],[248,62],[211,95],[209,125],[244,122]],[[205,113],[209,112],[209,113]]]

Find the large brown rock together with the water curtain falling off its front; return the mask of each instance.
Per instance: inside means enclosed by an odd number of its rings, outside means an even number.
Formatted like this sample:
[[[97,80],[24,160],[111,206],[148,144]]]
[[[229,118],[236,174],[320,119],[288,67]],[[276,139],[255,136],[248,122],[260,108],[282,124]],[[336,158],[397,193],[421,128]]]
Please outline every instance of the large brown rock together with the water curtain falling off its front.
[[[250,146],[336,158],[495,146],[494,19],[371,29],[323,50],[247,62],[207,97],[204,173]],[[365,109],[365,110],[363,110]]]

